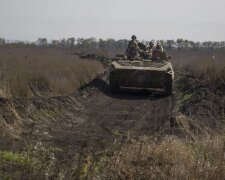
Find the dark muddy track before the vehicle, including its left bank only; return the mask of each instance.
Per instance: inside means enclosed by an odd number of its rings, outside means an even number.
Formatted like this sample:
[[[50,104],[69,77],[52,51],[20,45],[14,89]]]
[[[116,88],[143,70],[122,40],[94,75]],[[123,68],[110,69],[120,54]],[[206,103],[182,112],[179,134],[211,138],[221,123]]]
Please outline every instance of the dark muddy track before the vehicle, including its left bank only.
[[[17,129],[3,132],[1,146],[17,150],[38,142],[60,148],[57,159],[69,161],[76,153],[95,154],[110,150],[115,141],[153,135],[170,121],[174,102],[156,92],[111,94],[101,76],[76,94],[1,102],[2,117]]]

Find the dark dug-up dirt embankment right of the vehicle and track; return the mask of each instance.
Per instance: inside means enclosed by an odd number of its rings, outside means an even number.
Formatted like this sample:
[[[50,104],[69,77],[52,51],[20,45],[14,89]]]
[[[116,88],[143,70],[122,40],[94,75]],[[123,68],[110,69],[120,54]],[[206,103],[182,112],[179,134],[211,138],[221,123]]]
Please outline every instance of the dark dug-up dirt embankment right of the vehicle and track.
[[[225,92],[216,82],[205,83],[190,73],[177,73],[179,111],[203,127],[221,129],[225,118]]]

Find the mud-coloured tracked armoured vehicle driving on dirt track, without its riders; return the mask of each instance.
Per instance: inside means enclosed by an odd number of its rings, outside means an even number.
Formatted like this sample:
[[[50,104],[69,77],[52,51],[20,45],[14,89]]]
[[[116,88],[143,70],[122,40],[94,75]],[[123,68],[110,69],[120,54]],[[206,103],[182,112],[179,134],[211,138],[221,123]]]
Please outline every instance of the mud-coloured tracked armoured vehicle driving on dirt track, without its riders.
[[[121,88],[162,89],[164,95],[169,96],[172,94],[173,80],[173,67],[165,60],[117,58],[112,60],[109,68],[112,92],[118,92]]]

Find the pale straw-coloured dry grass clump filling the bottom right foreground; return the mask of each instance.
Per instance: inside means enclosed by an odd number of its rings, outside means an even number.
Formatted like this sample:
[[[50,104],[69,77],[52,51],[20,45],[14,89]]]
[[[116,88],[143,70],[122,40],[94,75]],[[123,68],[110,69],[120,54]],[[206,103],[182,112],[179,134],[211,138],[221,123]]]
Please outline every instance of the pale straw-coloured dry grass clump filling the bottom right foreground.
[[[122,179],[223,179],[224,137],[188,141],[142,137],[115,152],[103,174]]]

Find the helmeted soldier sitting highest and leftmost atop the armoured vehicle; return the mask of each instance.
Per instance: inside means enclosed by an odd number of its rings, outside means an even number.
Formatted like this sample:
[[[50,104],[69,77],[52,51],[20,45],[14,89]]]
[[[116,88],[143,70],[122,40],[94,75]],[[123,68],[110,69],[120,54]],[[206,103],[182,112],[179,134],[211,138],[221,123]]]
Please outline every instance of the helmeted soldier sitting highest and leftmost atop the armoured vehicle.
[[[128,44],[127,50],[126,50],[126,54],[128,59],[138,59],[139,58],[139,52],[140,52],[140,48],[138,47],[138,41],[137,41],[137,37],[135,35],[133,35],[131,37],[131,41]]]

